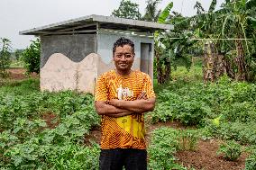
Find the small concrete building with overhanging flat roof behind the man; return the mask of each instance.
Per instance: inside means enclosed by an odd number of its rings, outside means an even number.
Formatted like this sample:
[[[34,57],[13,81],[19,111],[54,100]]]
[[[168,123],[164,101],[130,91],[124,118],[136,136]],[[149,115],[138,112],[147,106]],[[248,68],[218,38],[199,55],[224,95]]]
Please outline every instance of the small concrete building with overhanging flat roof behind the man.
[[[111,16],[89,15],[66,22],[20,31],[41,38],[41,90],[78,90],[94,94],[96,78],[114,68],[113,44],[120,37],[133,40],[133,69],[153,76],[154,31],[172,25]]]

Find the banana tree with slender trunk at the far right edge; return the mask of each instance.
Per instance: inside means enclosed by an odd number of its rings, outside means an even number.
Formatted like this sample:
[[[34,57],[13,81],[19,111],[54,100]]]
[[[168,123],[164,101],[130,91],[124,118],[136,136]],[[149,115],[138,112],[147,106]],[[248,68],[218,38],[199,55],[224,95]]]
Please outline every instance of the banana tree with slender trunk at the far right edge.
[[[223,17],[222,36],[234,38],[236,57],[233,58],[234,77],[239,81],[248,81],[251,67],[251,41],[248,37],[255,38],[255,0],[233,0],[223,4],[221,11]],[[255,49],[255,48],[254,48]]]

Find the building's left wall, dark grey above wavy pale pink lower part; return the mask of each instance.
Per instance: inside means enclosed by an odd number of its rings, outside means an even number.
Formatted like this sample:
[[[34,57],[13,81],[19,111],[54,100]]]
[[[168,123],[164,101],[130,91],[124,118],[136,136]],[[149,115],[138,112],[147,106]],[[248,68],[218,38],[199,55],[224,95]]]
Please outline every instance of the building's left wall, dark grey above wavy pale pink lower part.
[[[96,35],[41,37],[41,90],[78,90],[94,94]]]

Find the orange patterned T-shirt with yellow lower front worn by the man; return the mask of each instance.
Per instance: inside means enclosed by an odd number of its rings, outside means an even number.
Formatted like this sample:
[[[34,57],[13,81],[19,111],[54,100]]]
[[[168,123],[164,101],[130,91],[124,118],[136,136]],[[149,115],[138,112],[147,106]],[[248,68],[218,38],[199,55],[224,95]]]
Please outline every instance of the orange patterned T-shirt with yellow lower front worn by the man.
[[[142,91],[146,92],[148,98],[155,97],[150,76],[141,71],[132,71],[129,76],[120,76],[111,70],[98,78],[95,101],[111,99],[133,101]],[[143,114],[120,118],[103,115],[101,133],[102,149],[146,148]]]

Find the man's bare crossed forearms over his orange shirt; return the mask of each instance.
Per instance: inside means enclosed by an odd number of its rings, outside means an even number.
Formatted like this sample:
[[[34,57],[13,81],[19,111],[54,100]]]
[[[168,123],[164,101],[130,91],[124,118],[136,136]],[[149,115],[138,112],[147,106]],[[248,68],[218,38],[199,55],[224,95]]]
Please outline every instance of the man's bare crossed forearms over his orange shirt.
[[[151,112],[155,107],[155,101],[154,97],[147,99],[146,93],[142,92],[135,101],[112,99],[109,102],[97,101],[95,106],[99,115],[118,118],[134,113]]]

